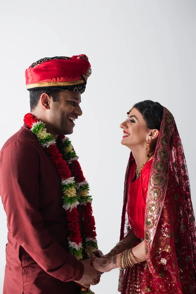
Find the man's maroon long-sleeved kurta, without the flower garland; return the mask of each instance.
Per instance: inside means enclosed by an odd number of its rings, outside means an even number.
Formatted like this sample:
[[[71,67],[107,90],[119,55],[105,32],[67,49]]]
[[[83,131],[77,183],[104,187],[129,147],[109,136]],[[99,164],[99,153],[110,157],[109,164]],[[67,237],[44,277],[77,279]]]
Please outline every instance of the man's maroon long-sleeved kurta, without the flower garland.
[[[24,125],[0,151],[8,243],[3,294],[76,294],[83,265],[68,253],[61,180]],[[80,218],[81,224],[81,218]]]

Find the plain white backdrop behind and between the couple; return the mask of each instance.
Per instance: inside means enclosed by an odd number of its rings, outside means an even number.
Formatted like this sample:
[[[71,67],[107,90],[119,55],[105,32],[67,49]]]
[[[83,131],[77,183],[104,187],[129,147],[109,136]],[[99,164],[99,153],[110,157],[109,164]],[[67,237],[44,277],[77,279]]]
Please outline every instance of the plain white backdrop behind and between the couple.
[[[51,56],[85,53],[92,65],[83,116],[71,136],[94,196],[99,247],[119,240],[123,179],[129,150],[120,123],[140,100],[174,115],[196,209],[196,1],[59,0],[0,4],[0,147],[29,111],[25,69]],[[0,206],[0,292],[6,217]],[[117,294],[118,270],[102,276],[96,294]]]

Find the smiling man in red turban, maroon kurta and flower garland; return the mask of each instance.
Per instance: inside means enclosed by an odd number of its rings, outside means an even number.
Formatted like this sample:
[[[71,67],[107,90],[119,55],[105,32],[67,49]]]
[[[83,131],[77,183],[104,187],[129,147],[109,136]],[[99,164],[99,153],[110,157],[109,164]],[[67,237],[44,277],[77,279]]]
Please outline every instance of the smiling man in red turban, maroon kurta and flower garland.
[[[99,282],[87,258],[97,246],[88,183],[63,136],[82,115],[90,74],[86,55],[44,58],[25,72],[31,113],[0,152],[8,227],[3,294],[79,294],[79,285]]]

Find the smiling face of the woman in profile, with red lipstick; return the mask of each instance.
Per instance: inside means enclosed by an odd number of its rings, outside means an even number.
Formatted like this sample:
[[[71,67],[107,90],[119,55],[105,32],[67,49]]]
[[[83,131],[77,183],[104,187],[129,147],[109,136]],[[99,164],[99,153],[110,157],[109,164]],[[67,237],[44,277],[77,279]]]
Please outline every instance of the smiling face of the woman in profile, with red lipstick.
[[[121,123],[123,139],[121,143],[130,149],[136,146],[145,146],[149,139],[151,130],[147,128],[146,121],[142,114],[133,108],[126,121]]]

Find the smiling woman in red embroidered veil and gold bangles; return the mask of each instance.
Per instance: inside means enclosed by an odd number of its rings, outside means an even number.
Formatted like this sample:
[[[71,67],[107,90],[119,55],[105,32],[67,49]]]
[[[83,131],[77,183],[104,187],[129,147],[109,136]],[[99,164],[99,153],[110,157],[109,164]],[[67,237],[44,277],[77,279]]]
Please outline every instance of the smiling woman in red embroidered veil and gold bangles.
[[[119,267],[122,294],[196,294],[195,218],[173,116],[150,100],[127,114],[122,144],[132,152],[121,241],[104,258],[95,258],[93,267],[101,272]]]

